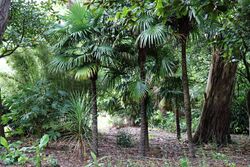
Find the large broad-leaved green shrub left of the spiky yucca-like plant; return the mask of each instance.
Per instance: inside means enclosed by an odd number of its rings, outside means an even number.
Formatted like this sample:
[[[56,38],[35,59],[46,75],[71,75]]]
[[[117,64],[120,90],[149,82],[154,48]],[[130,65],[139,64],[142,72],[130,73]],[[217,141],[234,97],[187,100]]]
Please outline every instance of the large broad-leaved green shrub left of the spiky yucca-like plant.
[[[48,81],[27,85],[5,100],[10,113],[3,122],[15,132],[42,134],[60,129],[59,118],[68,111],[67,93],[57,90]],[[21,131],[20,131],[21,130]],[[52,133],[52,132],[50,132]]]

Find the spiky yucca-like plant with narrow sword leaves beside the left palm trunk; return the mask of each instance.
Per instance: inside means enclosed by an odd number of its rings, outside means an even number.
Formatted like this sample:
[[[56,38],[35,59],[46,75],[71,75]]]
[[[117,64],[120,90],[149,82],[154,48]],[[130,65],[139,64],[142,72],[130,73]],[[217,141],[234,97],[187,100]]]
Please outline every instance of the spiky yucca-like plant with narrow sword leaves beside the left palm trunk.
[[[90,112],[89,97],[76,92],[70,96],[70,110],[65,114],[65,129],[68,132],[65,139],[69,142],[76,141],[80,160],[86,156],[86,142],[90,138]]]

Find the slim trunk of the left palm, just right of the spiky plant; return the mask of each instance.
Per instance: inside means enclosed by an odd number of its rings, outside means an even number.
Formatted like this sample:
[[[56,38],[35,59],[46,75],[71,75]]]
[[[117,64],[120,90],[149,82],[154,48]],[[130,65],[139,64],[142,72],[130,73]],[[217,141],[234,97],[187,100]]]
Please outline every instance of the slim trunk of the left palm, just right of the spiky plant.
[[[96,92],[97,74],[91,77],[92,94],[92,151],[98,156],[98,126],[97,126],[97,92]]]

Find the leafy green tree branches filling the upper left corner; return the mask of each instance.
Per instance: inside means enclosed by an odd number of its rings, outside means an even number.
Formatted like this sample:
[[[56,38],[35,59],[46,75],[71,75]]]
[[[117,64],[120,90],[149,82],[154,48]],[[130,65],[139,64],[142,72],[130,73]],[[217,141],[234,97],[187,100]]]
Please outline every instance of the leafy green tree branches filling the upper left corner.
[[[34,47],[44,42],[44,32],[54,21],[49,3],[14,0],[11,2],[9,24],[4,33],[0,57],[9,56],[18,48]]]

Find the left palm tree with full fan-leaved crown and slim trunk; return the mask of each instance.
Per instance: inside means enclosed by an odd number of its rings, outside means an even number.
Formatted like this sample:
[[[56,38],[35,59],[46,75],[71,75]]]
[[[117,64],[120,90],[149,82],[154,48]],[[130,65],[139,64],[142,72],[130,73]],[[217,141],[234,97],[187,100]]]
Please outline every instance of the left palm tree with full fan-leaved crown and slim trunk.
[[[57,28],[60,40],[55,45],[54,71],[69,71],[76,79],[91,81],[92,151],[98,156],[97,79],[103,66],[112,64],[112,47],[104,35],[101,10],[87,9],[79,3],[70,7]]]

